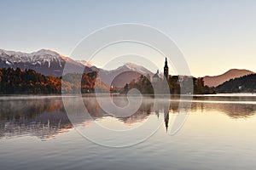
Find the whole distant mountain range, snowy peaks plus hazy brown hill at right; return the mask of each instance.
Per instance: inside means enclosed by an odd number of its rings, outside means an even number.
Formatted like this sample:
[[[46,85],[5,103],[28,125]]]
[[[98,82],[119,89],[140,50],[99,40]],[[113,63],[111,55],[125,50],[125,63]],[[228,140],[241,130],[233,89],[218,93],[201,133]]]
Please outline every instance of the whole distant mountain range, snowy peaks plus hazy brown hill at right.
[[[61,77],[64,66],[68,63],[68,72],[75,72],[77,69],[84,69],[84,72],[98,71],[100,79],[108,86],[124,87],[125,83],[131,82],[133,79],[144,75],[153,77],[154,73],[148,71],[141,65],[133,63],[125,63],[117,69],[107,71],[97,68],[95,65],[90,65],[84,60],[73,60],[62,54],[49,49],[41,49],[33,53],[21,53],[15,51],[7,51],[0,49],[0,68],[17,68],[32,69],[45,76]],[[216,87],[223,82],[232,78],[243,77],[253,74],[253,71],[232,69],[222,75],[215,77],[203,77],[205,85]]]

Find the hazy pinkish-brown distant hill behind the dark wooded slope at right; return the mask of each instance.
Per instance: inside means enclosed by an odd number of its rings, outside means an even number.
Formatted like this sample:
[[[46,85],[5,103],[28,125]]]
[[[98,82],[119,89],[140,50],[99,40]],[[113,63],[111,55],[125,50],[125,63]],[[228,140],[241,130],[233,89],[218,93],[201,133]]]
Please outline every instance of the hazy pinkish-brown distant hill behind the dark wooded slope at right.
[[[215,77],[203,77],[205,85],[209,87],[217,87],[218,85],[222,84],[223,82],[229,81],[230,79],[243,77],[246,75],[253,74],[253,71],[248,70],[239,70],[239,69],[231,69],[230,71],[225,72],[222,75],[215,76]]]

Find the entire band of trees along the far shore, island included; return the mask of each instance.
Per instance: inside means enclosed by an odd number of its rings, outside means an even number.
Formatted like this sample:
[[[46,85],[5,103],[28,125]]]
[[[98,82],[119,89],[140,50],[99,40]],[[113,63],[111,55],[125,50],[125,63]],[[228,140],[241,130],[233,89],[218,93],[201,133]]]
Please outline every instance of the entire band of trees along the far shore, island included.
[[[86,74],[69,73],[64,77],[49,77],[31,69],[22,71],[20,68],[2,68],[0,94],[92,94],[96,91],[96,85],[97,93],[108,93],[109,87],[96,79],[97,76],[96,71],[91,71]],[[149,75],[141,76],[120,90],[114,88],[114,92],[126,94],[131,88],[137,88],[142,94],[154,94],[154,89],[158,89],[159,94],[165,94],[166,90],[170,90],[170,94],[256,93],[256,74],[231,79],[217,88],[206,86],[202,77],[170,76],[167,82],[169,89],[166,89],[160,78],[151,82]]]

